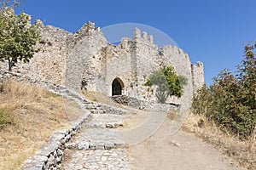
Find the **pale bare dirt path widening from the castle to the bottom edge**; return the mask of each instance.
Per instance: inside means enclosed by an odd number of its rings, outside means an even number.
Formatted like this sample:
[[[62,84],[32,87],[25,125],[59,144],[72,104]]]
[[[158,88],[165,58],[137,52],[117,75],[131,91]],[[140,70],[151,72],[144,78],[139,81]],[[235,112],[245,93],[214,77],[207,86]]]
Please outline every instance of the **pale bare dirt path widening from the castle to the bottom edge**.
[[[94,94],[92,99],[97,99],[107,105],[120,106],[102,94]],[[169,119],[166,119],[158,128],[160,122],[165,120],[165,115],[148,114],[146,111],[132,110],[124,105],[121,107],[135,113],[125,118],[124,127],[117,132],[125,144],[129,145],[126,151],[131,169],[241,170],[241,167],[224,159],[218,150],[201,139],[197,139],[195,135],[183,131],[171,135],[172,122]],[[179,123],[176,124],[179,126]],[[172,126],[176,124],[173,123]],[[152,135],[152,132],[155,133]],[[148,139],[137,144],[137,141],[145,139],[147,135],[150,136]]]

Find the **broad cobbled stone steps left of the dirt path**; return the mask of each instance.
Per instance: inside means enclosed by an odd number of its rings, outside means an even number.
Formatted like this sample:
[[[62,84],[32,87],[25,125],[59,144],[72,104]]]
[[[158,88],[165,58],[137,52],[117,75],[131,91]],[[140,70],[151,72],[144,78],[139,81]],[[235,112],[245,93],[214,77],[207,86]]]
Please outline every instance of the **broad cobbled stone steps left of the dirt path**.
[[[129,115],[90,114],[78,135],[73,136],[64,151],[61,170],[64,169],[130,169],[125,141],[114,128],[123,126]]]

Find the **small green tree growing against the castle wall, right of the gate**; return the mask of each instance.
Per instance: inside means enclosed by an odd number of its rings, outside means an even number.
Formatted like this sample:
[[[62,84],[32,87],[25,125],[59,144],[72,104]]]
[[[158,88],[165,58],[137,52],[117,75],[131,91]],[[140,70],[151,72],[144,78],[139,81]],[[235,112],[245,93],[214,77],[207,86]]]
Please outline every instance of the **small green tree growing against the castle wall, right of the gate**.
[[[183,86],[188,82],[186,77],[177,76],[172,66],[166,66],[160,68],[159,71],[153,71],[146,86],[156,85],[155,96],[158,102],[165,103],[169,96],[181,97],[183,94]]]

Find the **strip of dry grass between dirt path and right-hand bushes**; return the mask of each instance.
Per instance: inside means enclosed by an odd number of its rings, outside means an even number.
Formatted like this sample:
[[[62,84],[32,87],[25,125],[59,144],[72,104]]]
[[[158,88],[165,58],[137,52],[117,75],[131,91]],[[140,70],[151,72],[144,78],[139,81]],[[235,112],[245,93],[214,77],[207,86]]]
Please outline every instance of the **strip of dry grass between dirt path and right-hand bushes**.
[[[212,122],[207,122],[206,117],[194,114],[189,114],[183,130],[195,133],[196,136],[221,150],[224,157],[229,156],[239,162],[241,167],[256,169],[255,133],[250,139],[242,141],[230,133],[224,133]]]

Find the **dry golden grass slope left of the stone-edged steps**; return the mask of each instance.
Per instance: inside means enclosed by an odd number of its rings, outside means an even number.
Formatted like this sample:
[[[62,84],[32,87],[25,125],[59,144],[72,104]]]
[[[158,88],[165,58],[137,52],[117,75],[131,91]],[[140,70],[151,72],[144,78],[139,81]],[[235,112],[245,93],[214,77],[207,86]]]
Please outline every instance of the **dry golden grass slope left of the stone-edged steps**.
[[[0,169],[17,169],[50,134],[69,124],[62,98],[36,86],[0,84],[0,110],[9,117],[0,129]]]

